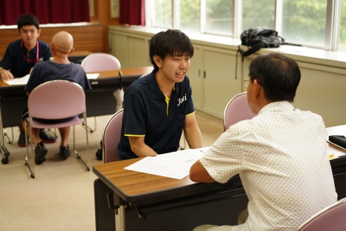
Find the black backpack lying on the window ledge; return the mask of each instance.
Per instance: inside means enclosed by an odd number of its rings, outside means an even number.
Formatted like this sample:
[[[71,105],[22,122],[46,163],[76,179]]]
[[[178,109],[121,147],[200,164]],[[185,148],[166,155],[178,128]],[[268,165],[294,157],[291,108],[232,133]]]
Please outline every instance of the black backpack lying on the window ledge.
[[[285,40],[277,35],[277,31],[257,26],[249,28],[241,33],[241,44],[244,46],[251,46],[248,51],[241,50],[239,46],[239,52],[243,57],[245,57],[261,48],[279,47],[281,44],[285,44]]]

